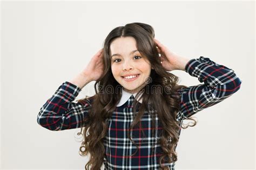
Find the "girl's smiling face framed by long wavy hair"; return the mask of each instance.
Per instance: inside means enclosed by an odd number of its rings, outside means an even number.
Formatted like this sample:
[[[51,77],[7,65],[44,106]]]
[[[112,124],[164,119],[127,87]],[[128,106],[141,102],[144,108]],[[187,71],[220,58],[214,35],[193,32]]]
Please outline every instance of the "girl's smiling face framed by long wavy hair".
[[[149,60],[136,50],[136,40],[133,37],[119,37],[110,44],[113,77],[125,91],[132,94],[146,85],[145,81],[151,72]]]

